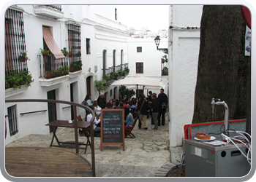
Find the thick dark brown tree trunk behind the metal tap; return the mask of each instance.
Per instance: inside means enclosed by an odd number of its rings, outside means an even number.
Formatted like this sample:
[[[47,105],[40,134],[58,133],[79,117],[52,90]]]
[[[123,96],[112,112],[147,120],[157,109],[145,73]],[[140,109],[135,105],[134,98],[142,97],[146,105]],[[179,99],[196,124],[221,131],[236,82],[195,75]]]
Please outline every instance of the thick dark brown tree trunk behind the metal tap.
[[[224,121],[224,106],[231,119],[245,119],[249,87],[249,56],[244,56],[246,24],[240,6],[204,6],[192,123]]]

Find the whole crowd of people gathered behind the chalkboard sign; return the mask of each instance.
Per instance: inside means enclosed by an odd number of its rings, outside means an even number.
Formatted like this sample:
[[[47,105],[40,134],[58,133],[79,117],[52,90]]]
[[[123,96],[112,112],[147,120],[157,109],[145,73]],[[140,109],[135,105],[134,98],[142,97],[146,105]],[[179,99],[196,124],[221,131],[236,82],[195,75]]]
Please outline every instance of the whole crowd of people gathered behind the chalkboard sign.
[[[167,95],[163,89],[160,90],[158,96],[151,91],[148,93],[147,98],[145,95],[141,95],[140,98],[112,99],[108,103],[102,94],[93,102],[91,101],[91,95],[88,94],[82,104],[89,106],[95,112],[94,131],[97,132],[97,136],[100,136],[99,118],[102,108],[124,108],[124,124],[126,128],[132,127],[134,118],[139,116],[139,129],[148,130],[146,119],[148,116],[151,116],[151,124],[154,124],[152,130],[158,130],[161,123],[163,126],[165,125],[165,111],[168,103]],[[91,117],[92,114],[86,110],[86,120],[91,121]]]

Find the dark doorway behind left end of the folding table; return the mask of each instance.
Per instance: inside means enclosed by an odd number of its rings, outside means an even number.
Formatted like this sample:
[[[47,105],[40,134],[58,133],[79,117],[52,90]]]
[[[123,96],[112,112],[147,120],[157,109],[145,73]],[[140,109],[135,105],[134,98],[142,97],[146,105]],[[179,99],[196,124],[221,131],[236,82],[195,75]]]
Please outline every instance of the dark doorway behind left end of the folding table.
[[[50,90],[47,92],[47,99],[56,100],[56,90]],[[48,119],[49,123],[57,120],[56,103],[48,103]],[[50,127],[50,132],[53,132],[56,128]]]

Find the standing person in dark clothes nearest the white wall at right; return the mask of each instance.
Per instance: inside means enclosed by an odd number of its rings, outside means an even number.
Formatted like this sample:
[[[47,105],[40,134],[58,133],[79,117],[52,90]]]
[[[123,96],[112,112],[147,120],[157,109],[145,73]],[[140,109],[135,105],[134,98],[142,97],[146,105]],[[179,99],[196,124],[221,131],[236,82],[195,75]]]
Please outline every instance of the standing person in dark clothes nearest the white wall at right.
[[[164,89],[160,90],[160,93],[157,98],[159,100],[158,126],[160,126],[161,124],[161,119],[162,119],[162,126],[165,126],[165,111],[167,108],[168,99],[167,99],[167,95],[164,93]]]

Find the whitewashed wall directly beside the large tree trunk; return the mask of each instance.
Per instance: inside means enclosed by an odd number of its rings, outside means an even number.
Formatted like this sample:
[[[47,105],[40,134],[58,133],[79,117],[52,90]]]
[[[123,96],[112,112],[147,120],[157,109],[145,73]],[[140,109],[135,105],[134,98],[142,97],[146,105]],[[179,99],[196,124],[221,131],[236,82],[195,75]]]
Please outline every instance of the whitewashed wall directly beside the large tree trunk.
[[[184,125],[192,123],[202,10],[203,6],[173,5],[169,11],[170,25],[174,27],[168,37],[173,42],[169,47],[170,146],[182,145]]]

